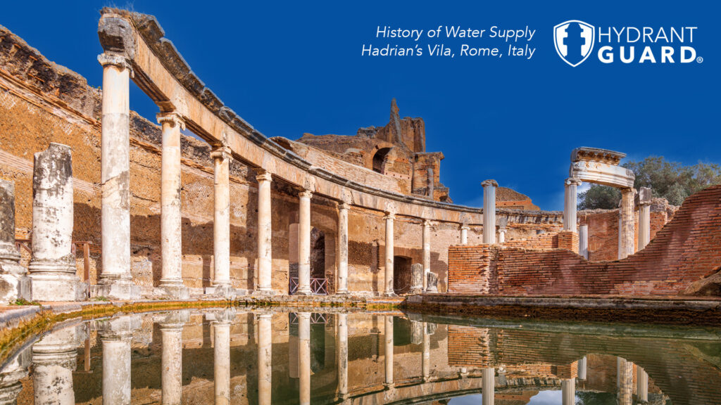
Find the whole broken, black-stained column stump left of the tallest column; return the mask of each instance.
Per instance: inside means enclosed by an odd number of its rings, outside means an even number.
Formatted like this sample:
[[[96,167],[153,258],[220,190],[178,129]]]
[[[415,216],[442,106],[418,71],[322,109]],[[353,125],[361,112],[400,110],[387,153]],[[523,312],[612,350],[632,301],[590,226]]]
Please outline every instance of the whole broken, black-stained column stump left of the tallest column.
[[[32,174],[32,260],[34,301],[83,301],[87,285],[76,275],[73,247],[71,148],[50,143],[35,153]]]

